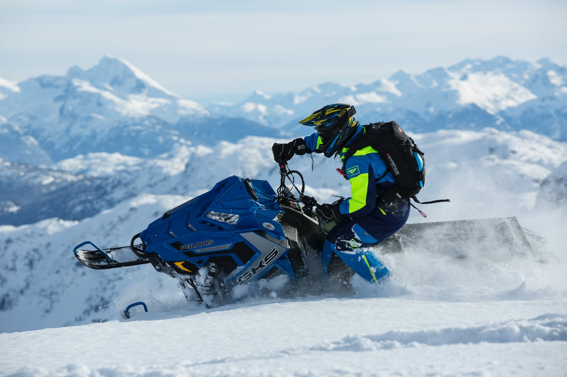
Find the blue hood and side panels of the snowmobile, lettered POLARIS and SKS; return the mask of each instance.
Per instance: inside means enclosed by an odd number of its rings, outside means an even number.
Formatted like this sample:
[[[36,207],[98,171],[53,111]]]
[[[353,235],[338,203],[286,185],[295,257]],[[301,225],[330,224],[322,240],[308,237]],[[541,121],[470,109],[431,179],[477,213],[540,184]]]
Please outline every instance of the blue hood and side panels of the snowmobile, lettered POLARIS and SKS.
[[[164,213],[139,238],[144,252],[158,254],[178,273],[214,261],[227,272],[225,282],[242,283],[268,272],[289,249],[275,198],[268,182],[233,175]]]

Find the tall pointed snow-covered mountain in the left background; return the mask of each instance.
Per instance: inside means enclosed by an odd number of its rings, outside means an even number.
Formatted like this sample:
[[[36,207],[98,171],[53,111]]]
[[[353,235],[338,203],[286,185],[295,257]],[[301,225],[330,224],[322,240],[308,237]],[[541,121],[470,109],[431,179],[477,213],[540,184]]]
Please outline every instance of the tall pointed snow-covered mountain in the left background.
[[[252,121],[210,114],[108,55],[86,71],[71,67],[65,76],[10,85],[0,115],[37,139],[53,160],[88,152],[155,156],[176,144],[276,134]]]

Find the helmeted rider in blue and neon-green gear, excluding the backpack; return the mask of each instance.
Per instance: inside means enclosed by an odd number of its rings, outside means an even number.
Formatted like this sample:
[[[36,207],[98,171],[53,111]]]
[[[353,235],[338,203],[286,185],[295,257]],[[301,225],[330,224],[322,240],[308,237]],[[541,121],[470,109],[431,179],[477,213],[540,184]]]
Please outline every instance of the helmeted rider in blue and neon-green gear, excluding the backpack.
[[[342,163],[350,145],[366,133],[366,128],[356,121],[355,113],[354,106],[348,104],[332,104],[317,110],[299,122],[314,127],[317,132],[289,143],[274,143],[274,160],[315,152],[325,157],[339,156]],[[361,248],[378,245],[407,222],[409,199],[383,195],[396,181],[379,151],[371,146],[351,151],[340,172],[348,179],[352,196],[316,208],[324,221],[336,221],[321,251],[323,275],[327,276],[335,253],[366,280],[387,280],[390,271],[373,252]]]

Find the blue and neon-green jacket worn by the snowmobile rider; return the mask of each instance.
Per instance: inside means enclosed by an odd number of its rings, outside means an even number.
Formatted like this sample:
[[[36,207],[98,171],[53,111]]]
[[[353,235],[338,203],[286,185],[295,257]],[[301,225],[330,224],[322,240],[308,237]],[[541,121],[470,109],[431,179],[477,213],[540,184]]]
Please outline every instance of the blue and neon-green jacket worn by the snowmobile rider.
[[[345,158],[348,146],[358,140],[365,132],[364,127],[359,126],[359,131],[355,134],[342,151],[337,152],[340,161]],[[315,134],[303,138],[306,144],[307,153],[323,153],[319,146],[323,144],[319,135]],[[392,173],[387,172],[388,168],[378,151],[372,147],[362,148],[356,151],[352,157],[346,161],[345,173],[346,179],[350,182],[350,198],[346,198],[340,205],[341,214],[345,217],[361,217],[366,216],[374,211],[376,207],[376,196],[387,186],[395,184]],[[385,174],[385,175],[384,175]],[[382,178],[380,178],[382,177]],[[380,178],[377,180],[377,178]]]

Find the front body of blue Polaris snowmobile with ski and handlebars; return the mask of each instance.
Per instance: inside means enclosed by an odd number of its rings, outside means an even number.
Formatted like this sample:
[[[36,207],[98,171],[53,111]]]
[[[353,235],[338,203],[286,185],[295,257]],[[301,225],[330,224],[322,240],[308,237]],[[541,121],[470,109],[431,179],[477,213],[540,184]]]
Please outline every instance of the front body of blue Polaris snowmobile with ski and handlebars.
[[[278,276],[292,283],[305,279],[308,254],[320,254],[334,223],[324,224],[315,215],[317,203],[303,195],[301,173],[288,170],[285,161],[280,172],[277,192],[267,181],[234,175],[164,213],[134,235],[130,246],[101,249],[86,241],[74,254],[94,269],[151,263],[179,280],[188,299],[205,303],[238,284]],[[90,249],[82,249],[86,245]],[[348,280],[352,270],[337,257],[332,263],[333,271]]]

